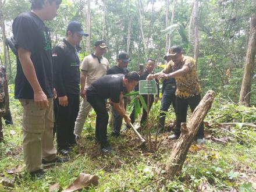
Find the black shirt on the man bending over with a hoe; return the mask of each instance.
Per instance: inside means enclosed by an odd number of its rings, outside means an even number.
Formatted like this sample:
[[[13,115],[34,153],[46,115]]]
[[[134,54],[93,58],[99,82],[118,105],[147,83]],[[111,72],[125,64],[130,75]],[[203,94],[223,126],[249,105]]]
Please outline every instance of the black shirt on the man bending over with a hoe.
[[[95,95],[102,99],[111,99],[112,102],[119,103],[119,95],[125,91],[123,87],[123,74],[109,74],[95,80],[86,90],[86,95]]]

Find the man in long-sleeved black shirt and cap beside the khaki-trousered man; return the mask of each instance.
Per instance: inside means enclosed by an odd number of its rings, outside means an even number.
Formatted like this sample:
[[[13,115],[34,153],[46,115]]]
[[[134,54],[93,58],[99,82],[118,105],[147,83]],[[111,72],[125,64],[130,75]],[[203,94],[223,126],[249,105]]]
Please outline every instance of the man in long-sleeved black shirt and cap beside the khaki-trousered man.
[[[79,56],[76,45],[87,36],[79,22],[70,22],[66,38],[59,42],[52,56],[54,59],[55,88],[57,91],[58,112],[56,115],[56,136],[58,152],[67,155],[69,147],[76,145],[74,122],[79,112]]]

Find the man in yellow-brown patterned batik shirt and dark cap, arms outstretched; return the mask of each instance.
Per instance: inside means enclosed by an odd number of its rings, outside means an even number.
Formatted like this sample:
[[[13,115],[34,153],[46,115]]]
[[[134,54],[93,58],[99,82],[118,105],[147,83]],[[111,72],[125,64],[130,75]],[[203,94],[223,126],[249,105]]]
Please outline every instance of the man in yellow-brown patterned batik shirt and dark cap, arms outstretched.
[[[181,47],[173,46],[170,48],[169,55],[171,61],[168,66],[172,70],[170,73],[156,73],[149,74],[148,79],[170,79],[175,78],[177,84],[176,90],[176,127],[174,134],[168,138],[175,140],[180,136],[180,125],[182,122],[186,123],[187,108],[190,106],[191,112],[201,100],[201,88],[198,83],[197,73],[195,71],[194,59],[190,56],[184,56]],[[199,130],[195,136],[198,144],[204,143],[204,126],[200,125]]]

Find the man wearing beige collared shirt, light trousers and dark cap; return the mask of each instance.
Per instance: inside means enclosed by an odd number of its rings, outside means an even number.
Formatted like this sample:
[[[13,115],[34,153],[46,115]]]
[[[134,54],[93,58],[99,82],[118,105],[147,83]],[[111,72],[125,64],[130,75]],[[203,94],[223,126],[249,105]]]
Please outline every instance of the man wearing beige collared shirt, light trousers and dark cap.
[[[82,62],[80,74],[80,96],[83,100],[74,125],[74,134],[76,135],[76,138],[81,137],[84,122],[86,122],[87,115],[91,109],[91,105],[86,101],[86,89],[90,87],[95,80],[105,76],[106,70],[109,69],[108,59],[102,56],[106,48],[107,46],[104,40],[96,41],[94,44],[94,54],[86,56]]]

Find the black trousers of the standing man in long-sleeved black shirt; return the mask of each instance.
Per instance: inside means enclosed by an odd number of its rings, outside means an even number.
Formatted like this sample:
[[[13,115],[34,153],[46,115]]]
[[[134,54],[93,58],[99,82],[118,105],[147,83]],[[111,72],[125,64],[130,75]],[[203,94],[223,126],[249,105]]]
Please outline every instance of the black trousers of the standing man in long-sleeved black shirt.
[[[58,98],[57,98],[58,101]],[[74,122],[79,112],[80,95],[67,94],[67,106],[58,103],[56,116],[56,136],[58,148],[65,148],[75,144]]]

